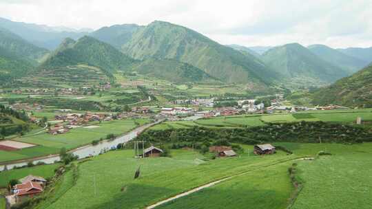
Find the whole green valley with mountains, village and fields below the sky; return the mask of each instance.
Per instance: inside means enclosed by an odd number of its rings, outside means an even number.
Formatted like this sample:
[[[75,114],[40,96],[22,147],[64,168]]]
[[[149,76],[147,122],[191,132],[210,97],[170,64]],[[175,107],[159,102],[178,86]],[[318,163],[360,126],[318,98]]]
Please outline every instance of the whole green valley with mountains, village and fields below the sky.
[[[207,34],[0,18],[0,209],[371,208],[371,48]]]

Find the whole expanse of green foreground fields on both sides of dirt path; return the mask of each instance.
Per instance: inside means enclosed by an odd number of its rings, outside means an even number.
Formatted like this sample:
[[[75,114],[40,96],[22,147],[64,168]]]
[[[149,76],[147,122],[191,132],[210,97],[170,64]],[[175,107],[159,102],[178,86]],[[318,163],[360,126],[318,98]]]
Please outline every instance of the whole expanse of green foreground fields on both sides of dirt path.
[[[280,145],[293,149],[294,154],[278,151],[260,157],[251,153],[252,146],[242,145],[245,153],[240,157],[203,162],[203,155],[186,150],[171,150],[172,157],[147,159],[134,159],[131,150],[112,151],[78,164],[76,184],[67,184],[72,171],[66,173],[63,181],[71,188],[58,187],[51,194],[53,201],[43,201],[37,208],[145,208],[224,177],[231,178],[158,208],[286,208],[294,190],[288,173],[293,162],[298,164],[297,175],[304,185],[293,208],[369,208],[371,185],[364,183],[372,181],[368,160],[372,143]],[[324,150],[333,155],[298,159]],[[141,177],[133,179],[138,166]]]

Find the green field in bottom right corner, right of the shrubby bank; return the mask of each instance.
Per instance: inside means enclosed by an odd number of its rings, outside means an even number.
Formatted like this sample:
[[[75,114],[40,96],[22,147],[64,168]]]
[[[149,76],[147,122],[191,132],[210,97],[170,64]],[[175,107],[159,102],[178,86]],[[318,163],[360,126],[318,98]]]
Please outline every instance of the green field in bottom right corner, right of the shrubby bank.
[[[372,206],[372,150],[321,157],[298,166],[304,181],[293,209],[367,209]]]

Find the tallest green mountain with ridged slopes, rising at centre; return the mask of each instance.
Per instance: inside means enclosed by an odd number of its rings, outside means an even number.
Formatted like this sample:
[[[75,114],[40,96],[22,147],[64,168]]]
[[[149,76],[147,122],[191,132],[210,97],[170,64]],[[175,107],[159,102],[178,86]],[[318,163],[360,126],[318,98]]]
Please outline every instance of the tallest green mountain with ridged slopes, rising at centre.
[[[258,58],[245,56],[194,30],[163,21],[154,21],[139,28],[121,49],[139,60],[176,59],[227,83],[264,86],[274,77]]]

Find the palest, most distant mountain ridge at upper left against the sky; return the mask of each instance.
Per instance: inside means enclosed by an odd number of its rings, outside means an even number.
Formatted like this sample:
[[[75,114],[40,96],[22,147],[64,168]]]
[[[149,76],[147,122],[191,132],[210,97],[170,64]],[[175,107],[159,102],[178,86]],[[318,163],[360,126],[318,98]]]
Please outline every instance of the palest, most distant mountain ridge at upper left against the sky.
[[[1,28],[6,28],[10,32],[21,36],[22,39],[48,50],[54,50],[67,37],[79,39],[81,36],[88,34],[87,32],[76,32],[76,30],[69,28],[21,23],[3,18],[0,18],[0,25]]]

